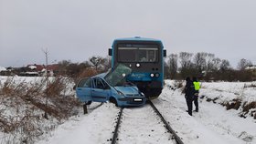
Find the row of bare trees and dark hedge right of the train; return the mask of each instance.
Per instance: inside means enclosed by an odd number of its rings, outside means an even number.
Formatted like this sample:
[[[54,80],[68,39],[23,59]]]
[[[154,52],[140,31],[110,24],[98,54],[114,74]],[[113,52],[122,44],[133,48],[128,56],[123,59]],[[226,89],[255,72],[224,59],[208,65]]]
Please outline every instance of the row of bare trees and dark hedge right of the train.
[[[215,57],[214,54],[180,52],[165,59],[165,78],[184,79],[198,77],[201,80],[251,81],[255,73],[246,70],[252,66],[251,60],[240,59],[237,69],[230,66],[229,60]]]

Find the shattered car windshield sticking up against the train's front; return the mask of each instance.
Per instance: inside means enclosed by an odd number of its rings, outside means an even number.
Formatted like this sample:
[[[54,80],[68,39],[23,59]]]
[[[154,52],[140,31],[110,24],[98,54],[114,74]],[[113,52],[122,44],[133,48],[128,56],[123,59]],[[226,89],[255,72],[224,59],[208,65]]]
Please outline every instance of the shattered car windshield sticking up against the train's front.
[[[104,79],[111,85],[112,87],[122,85],[125,77],[131,74],[132,69],[130,67],[126,67],[122,64],[119,64],[114,68],[113,71],[110,71]]]

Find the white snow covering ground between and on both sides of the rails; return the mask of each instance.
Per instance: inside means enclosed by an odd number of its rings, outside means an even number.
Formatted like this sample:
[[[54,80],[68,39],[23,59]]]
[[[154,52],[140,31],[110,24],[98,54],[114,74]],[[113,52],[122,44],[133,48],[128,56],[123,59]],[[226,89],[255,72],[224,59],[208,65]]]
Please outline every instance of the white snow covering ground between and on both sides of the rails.
[[[193,112],[192,117],[186,112],[182,88],[176,88],[175,82],[171,80],[165,80],[165,84],[162,94],[153,103],[185,144],[256,143],[256,119],[251,116],[255,115],[256,108],[251,108],[248,112],[244,112],[242,108],[256,101],[255,82],[203,82],[199,94],[199,112]],[[227,110],[224,104],[231,104],[234,99],[239,99],[240,107]],[[48,133],[50,137],[44,137],[37,143],[111,143],[120,108],[114,107],[112,103],[103,103],[98,107],[99,105],[100,103],[92,103],[86,115],[80,109],[77,116],[69,118]],[[240,117],[241,113],[243,118]],[[172,143],[164,124],[149,105],[124,108],[119,131],[117,142],[122,144]]]

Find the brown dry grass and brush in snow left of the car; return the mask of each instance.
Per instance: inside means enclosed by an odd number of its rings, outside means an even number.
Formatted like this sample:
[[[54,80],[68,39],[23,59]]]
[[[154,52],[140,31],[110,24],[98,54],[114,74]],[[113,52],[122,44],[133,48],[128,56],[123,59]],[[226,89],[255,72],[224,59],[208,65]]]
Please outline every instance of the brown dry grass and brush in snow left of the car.
[[[0,143],[34,143],[46,130],[55,128],[53,124],[76,114],[80,102],[66,95],[67,80],[56,77],[46,87],[46,78],[17,83],[9,77],[0,85],[0,130],[5,133]]]

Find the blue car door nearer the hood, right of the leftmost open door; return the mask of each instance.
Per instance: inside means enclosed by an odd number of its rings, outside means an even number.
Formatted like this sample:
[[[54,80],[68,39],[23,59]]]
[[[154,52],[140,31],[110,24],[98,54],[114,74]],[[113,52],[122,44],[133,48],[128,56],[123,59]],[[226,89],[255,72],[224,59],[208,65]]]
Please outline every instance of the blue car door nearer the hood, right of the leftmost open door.
[[[111,88],[101,77],[93,78],[93,87],[91,89],[91,98],[93,101],[105,102],[110,97]]]

